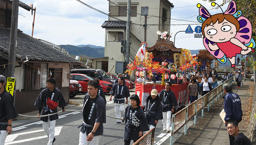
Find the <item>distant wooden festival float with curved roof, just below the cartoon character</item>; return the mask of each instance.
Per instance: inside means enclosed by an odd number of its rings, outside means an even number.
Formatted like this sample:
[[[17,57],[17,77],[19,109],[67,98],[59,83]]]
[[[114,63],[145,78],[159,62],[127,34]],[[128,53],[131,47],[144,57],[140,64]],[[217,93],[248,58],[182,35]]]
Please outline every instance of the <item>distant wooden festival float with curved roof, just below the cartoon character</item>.
[[[216,58],[213,57],[207,50],[205,49],[199,50],[199,54],[197,55],[197,61],[199,62],[198,68],[200,68],[200,70],[203,70],[206,67],[211,68],[211,64],[213,62],[214,62],[214,68],[219,67],[219,61],[214,59]],[[216,88],[218,86],[218,83],[217,83],[218,78],[214,78],[214,76],[211,76],[211,77],[213,80],[212,88]],[[203,78],[202,76],[197,76],[198,82],[201,82],[202,78]]]

